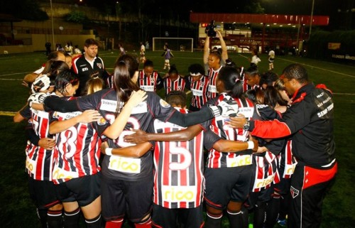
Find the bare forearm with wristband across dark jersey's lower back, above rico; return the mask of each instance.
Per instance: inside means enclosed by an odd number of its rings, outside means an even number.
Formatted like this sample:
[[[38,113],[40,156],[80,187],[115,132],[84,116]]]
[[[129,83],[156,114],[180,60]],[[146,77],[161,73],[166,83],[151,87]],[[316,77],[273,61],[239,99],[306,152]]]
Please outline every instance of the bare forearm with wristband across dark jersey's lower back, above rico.
[[[102,153],[106,154],[105,152],[106,148],[109,148],[107,142],[102,143],[101,145]],[[138,143],[136,146],[112,148],[111,153],[112,155],[119,155],[119,156],[130,157],[130,158],[141,158],[141,156],[143,156],[148,151],[150,151],[151,148],[152,148],[151,143],[145,142],[145,143]]]

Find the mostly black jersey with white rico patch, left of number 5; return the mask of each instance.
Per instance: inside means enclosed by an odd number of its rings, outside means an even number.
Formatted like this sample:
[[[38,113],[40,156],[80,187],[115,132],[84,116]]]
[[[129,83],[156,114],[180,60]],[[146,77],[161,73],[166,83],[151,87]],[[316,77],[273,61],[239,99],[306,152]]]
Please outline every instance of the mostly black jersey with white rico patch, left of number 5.
[[[126,134],[132,134],[130,129],[153,131],[153,120],[167,121],[176,110],[161,99],[154,92],[147,92],[147,99],[134,107],[124,131],[117,139],[108,139],[110,148],[119,148],[134,145],[124,141]],[[117,95],[114,89],[103,89],[90,96],[77,99],[80,110],[96,109],[103,116],[97,124],[99,135],[102,135],[107,126],[116,118]],[[121,104],[121,102],[119,102]],[[153,174],[152,153],[146,153],[141,158],[126,158],[121,156],[104,156],[102,161],[102,174],[105,178],[121,180],[140,180]]]

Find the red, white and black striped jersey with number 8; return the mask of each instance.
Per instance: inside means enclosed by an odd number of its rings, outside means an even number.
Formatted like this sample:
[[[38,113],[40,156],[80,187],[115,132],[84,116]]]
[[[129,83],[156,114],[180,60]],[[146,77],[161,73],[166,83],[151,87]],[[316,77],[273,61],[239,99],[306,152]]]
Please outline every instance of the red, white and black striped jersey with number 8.
[[[53,112],[50,121],[65,121],[80,114],[82,112]],[[75,124],[75,126],[56,134],[55,139],[53,168],[55,184],[99,172],[101,169],[99,166],[101,139],[92,124]]]

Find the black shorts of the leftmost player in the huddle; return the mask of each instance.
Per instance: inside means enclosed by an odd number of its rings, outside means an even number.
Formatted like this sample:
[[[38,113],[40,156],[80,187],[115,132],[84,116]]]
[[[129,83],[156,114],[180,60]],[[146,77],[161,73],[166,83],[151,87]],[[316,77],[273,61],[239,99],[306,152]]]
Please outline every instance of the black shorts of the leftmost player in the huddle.
[[[34,180],[28,177],[30,197],[37,208],[50,208],[60,203],[55,195],[55,184],[50,180]]]

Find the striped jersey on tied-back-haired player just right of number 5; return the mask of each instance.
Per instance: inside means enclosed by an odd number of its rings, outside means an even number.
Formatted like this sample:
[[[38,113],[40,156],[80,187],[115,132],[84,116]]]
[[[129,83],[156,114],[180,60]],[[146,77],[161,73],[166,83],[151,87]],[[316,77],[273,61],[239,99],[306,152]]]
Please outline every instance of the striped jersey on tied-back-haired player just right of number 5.
[[[244,114],[247,119],[260,118],[256,112],[256,107],[249,99],[231,98],[226,93],[222,93],[214,99],[209,99],[207,104],[218,105],[219,102],[222,102],[226,99],[234,99],[238,104],[238,112],[240,114]],[[220,136],[222,139],[226,140],[249,140],[249,131],[245,131],[243,129],[233,129],[231,126],[226,124],[226,121],[229,121],[229,119],[224,116],[215,117],[212,119],[210,126],[211,131]],[[207,158],[208,168],[236,167],[242,165],[251,165],[251,163],[251,150],[241,151],[239,153],[224,153],[223,151],[216,151],[214,148],[211,148]]]

